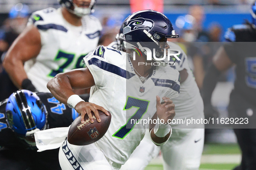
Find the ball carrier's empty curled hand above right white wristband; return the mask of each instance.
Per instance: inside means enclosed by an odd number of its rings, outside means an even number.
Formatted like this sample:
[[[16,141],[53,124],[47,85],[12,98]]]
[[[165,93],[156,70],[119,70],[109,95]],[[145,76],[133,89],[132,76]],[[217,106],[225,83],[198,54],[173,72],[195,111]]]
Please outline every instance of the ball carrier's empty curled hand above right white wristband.
[[[172,120],[175,116],[175,105],[172,103],[170,98],[163,97],[162,98],[165,103],[161,104],[161,100],[159,96],[156,96],[156,114],[158,118],[165,121],[165,124],[168,123],[168,120]],[[169,121],[169,123],[171,123]]]

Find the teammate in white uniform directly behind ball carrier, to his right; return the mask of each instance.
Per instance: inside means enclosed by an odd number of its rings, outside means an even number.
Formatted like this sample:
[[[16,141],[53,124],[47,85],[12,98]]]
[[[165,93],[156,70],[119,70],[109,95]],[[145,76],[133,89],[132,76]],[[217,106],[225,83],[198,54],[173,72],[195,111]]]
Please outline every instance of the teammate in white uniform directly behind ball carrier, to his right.
[[[172,99],[177,113],[175,119],[204,119],[203,100],[188,66],[188,58],[184,52],[179,58],[181,61],[176,60],[174,66],[181,74],[180,95]],[[184,72],[188,73],[187,78]],[[172,138],[160,147],[164,170],[198,170],[204,148],[204,125],[172,124],[171,126]]]

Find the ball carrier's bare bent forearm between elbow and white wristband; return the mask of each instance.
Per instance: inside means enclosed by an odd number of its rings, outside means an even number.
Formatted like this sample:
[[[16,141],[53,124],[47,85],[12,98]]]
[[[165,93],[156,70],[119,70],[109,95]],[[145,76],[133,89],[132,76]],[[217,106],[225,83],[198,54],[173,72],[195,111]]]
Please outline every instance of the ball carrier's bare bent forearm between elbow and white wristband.
[[[72,91],[68,76],[63,73],[58,74],[53,79],[51,79],[47,83],[47,88],[58,101],[64,104],[67,104],[68,98],[75,94]]]

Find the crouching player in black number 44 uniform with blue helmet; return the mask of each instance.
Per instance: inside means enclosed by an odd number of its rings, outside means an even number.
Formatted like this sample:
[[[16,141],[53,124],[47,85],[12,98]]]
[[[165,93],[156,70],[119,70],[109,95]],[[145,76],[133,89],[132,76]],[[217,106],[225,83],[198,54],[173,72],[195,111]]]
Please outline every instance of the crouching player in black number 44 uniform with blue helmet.
[[[81,95],[88,100],[86,95]],[[24,116],[25,115],[25,116]],[[34,132],[68,127],[78,116],[75,109],[51,93],[14,92],[0,102],[0,169],[60,170],[58,150],[37,152]]]

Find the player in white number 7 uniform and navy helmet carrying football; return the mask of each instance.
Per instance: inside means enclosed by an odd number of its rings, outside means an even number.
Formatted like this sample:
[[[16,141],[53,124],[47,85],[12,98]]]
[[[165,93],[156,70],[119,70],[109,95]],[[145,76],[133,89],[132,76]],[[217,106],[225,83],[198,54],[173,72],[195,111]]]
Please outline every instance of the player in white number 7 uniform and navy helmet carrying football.
[[[163,48],[161,44],[167,38],[178,37],[169,19],[152,10],[133,13],[124,29],[127,44],[133,41],[140,45],[143,41],[153,42],[160,57],[163,51],[159,49],[169,47]],[[137,35],[140,35],[139,39]],[[157,38],[152,38],[152,35],[157,35]],[[133,119],[148,120],[154,115],[165,123],[173,119],[174,104],[169,98],[178,96],[179,72],[169,66],[138,66],[138,62],[146,62],[146,56],[143,53],[143,56],[136,54],[136,60],[133,60],[134,57],[111,47],[99,46],[84,57],[87,68],[58,74],[48,83],[56,99],[81,113],[82,123],[86,113],[93,122],[91,111],[100,121],[97,109],[106,114],[109,110],[112,114],[109,129],[94,144],[76,146],[67,141],[63,143],[59,152],[63,170],[119,169],[149,128],[148,124],[134,123]],[[90,103],[82,101],[72,92],[72,88],[92,86]],[[169,124],[156,124],[150,131],[150,137],[157,145],[163,145],[170,134]]]

